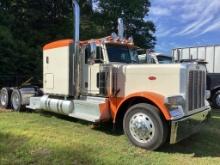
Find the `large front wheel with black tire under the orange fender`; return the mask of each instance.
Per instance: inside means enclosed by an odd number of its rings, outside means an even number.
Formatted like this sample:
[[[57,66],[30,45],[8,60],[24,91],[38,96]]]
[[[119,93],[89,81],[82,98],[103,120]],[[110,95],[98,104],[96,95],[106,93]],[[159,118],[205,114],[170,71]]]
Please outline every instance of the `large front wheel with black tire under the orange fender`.
[[[124,133],[134,145],[156,150],[167,138],[168,128],[159,110],[145,103],[132,106],[125,114]]]

